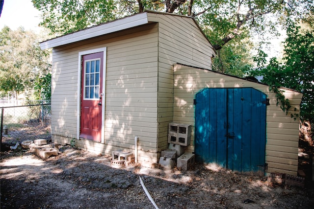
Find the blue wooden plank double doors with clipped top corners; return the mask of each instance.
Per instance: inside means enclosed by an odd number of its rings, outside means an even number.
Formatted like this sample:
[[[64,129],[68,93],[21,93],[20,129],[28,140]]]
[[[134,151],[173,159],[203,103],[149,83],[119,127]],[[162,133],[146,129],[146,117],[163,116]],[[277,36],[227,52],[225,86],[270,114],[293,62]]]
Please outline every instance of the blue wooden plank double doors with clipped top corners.
[[[207,88],[196,94],[195,157],[264,175],[266,94],[254,88]]]

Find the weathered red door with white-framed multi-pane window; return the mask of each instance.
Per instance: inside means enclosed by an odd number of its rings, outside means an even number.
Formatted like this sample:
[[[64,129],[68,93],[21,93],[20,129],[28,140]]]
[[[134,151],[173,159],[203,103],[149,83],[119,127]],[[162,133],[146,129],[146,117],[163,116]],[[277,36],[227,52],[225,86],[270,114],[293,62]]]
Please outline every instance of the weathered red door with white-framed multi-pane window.
[[[101,141],[104,52],[82,56],[80,134]]]

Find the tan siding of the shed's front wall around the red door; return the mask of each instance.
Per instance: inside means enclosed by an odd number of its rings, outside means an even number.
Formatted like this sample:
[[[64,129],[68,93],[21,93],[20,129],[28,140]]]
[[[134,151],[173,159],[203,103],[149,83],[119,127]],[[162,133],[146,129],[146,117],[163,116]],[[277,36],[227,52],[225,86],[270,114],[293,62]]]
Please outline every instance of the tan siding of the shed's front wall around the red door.
[[[53,49],[52,139],[111,154],[133,152],[138,161],[157,163],[158,24],[108,34]],[[107,47],[105,144],[77,140],[78,52]]]

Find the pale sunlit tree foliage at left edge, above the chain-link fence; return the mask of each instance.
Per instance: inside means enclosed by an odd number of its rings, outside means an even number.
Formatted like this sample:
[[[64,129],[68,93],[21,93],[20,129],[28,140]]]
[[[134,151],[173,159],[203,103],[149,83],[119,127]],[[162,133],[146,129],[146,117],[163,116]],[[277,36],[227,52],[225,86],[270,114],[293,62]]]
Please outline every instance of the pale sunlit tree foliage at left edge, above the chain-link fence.
[[[22,93],[34,87],[36,79],[51,71],[49,52],[39,46],[41,37],[20,27],[0,31],[0,91]],[[50,81],[47,81],[50,82]],[[39,93],[38,97],[39,97]]]

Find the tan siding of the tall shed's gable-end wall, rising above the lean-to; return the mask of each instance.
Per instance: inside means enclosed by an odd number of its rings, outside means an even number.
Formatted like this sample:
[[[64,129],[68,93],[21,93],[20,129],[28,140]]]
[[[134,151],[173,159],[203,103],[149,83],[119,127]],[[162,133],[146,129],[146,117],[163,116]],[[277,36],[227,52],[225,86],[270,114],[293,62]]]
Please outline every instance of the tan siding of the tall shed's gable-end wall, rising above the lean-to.
[[[158,22],[158,152],[168,147],[168,124],[173,121],[173,65],[211,69],[211,44],[192,18],[148,13]]]

